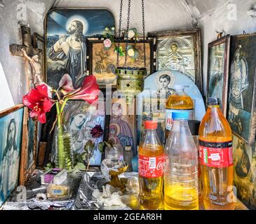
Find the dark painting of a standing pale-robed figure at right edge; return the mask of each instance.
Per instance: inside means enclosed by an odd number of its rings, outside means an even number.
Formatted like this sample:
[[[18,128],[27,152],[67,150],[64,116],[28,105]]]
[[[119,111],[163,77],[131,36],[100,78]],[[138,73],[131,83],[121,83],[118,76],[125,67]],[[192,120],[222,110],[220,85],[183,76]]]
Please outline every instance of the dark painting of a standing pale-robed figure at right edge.
[[[256,129],[256,34],[231,36],[228,115],[231,130],[249,146]]]

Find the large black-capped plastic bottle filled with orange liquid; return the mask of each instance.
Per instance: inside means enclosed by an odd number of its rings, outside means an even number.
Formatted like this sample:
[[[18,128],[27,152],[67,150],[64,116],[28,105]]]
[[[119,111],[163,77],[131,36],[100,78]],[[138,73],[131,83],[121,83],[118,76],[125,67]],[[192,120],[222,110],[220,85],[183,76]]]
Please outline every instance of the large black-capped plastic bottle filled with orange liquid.
[[[232,132],[220,99],[208,98],[199,127],[203,205],[207,210],[234,209]]]

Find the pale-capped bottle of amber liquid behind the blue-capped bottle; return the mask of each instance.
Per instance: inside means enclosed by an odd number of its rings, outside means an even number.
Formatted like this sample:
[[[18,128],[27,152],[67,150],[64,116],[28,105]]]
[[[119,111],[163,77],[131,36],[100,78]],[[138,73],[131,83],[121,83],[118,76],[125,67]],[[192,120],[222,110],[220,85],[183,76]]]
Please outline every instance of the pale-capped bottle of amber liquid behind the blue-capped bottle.
[[[184,85],[174,85],[175,92],[166,99],[166,139],[173,124],[172,113],[175,111],[187,111],[189,120],[194,119],[194,102],[186,92]]]

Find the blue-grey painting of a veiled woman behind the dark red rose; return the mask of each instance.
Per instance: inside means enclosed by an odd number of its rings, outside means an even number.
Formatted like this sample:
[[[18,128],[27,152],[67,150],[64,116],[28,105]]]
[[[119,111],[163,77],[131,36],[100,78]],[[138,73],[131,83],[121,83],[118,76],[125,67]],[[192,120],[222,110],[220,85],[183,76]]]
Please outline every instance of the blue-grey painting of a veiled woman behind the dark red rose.
[[[82,154],[85,151],[86,143],[91,140],[95,144],[93,152],[87,152],[90,155],[90,167],[99,167],[102,161],[102,153],[98,148],[100,142],[105,141],[105,134],[100,137],[93,137],[92,130],[100,125],[105,130],[105,103],[99,100],[97,106],[92,106],[85,101],[68,101],[65,109],[65,125],[72,135],[74,143],[74,153]],[[86,162],[86,161],[85,161]]]

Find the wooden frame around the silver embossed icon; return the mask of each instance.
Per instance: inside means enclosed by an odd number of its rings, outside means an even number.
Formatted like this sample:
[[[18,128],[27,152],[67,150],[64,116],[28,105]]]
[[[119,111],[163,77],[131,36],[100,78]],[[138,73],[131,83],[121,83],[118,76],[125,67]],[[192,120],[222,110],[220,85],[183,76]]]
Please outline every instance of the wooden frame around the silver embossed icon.
[[[156,70],[159,71],[159,41],[166,41],[171,38],[191,36],[194,44],[194,76],[198,89],[203,92],[203,78],[202,78],[202,62],[201,62],[201,30],[196,29],[180,29],[172,31],[156,31],[149,32],[149,38],[154,38],[156,42]],[[177,47],[177,44],[176,44]],[[163,69],[166,70],[166,69]]]

